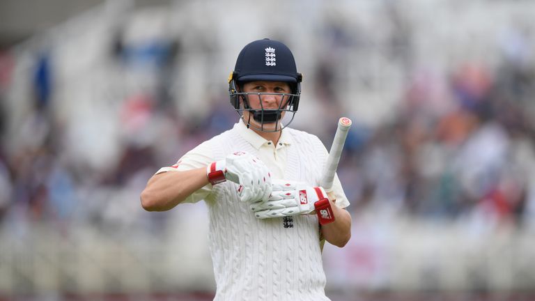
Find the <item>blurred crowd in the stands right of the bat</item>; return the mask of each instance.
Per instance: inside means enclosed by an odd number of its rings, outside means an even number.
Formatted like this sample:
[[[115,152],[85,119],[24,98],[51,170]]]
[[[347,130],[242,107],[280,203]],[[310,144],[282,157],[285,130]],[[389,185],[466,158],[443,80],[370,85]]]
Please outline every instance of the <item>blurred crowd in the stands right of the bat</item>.
[[[348,193],[359,207],[388,202],[433,219],[533,219],[534,75],[512,61],[414,74],[394,120],[347,158],[357,174],[349,183],[361,184]]]

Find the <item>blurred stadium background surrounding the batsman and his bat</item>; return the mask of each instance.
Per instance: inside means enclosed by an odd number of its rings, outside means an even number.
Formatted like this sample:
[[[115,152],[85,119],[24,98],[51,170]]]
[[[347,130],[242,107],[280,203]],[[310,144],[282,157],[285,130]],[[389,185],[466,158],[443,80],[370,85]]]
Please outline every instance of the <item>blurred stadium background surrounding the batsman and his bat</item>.
[[[344,300],[535,299],[535,1],[0,1],[0,300],[211,300],[202,204],[146,213],[162,166],[237,116],[251,40],[304,73],[330,146]]]

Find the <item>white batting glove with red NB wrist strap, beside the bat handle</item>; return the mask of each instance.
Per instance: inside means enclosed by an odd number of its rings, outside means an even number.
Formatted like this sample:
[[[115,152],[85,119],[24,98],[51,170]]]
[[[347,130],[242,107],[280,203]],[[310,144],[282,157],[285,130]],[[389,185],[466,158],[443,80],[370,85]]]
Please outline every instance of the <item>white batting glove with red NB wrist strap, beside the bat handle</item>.
[[[249,206],[259,219],[306,215],[316,210],[320,224],[334,222],[331,203],[323,187],[303,182],[273,180],[267,201],[255,201]]]

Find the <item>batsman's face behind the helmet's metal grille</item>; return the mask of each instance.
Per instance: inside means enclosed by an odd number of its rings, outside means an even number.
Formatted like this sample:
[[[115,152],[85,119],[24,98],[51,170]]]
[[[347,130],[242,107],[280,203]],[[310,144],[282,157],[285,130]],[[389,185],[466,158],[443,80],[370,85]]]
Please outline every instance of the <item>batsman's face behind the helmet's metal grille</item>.
[[[242,90],[242,92],[245,93],[268,93],[262,95],[249,94],[247,98],[249,100],[249,107],[251,107],[251,109],[286,109],[288,106],[288,100],[290,99],[288,95],[276,95],[269,93],[292,93],[290,85],[286,82],[248,82],[243,85]],[[281,118],[284,117],[284,113],[284,111],[281,112]],[[251,114],[249,111],[244,111],[244,119],[247,121],[250,120],[251,123],[257,123],[257,125],[260,125],[258,122],[253,120],[252,116],[249,119],[249,114]],[[266,126],[269,127],[270,125],[263,125],[264,128],[266,128]],[[275,123],[273,123],[272,126],[274,127]]]

